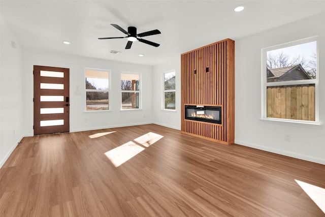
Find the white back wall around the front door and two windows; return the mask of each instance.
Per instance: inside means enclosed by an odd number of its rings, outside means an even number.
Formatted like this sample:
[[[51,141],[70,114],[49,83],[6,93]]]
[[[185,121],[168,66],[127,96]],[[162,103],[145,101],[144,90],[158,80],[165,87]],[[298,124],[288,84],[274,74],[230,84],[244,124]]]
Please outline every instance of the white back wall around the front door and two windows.
[[[34,65],[62,67],[70,69],[70,132],[105,129],[152,123],[152,71],[151,66],[128,64],[104,59],[23,51],[24,80],[26,80],[24,127],[28,135],[33,135],[33,76]],[[112,111],[85,112],[85,68],[111,70]],[[120,73],[142,73],[142,110],[120,111]]]

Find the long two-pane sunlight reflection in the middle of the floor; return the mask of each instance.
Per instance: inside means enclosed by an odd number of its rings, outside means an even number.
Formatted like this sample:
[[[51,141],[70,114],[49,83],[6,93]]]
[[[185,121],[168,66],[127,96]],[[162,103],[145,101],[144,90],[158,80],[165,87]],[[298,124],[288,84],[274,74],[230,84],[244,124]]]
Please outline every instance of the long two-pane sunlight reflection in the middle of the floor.
[[[105,152],[105,155],[115,167],[118,167],[143,151],[145,149],[144,147],[149,147],[163,137],[164,136],[161,136],[159,134],[149,132],[134,139],[134,141],[140,145],[136,144],[133,141],[129,141],[123,145]]]

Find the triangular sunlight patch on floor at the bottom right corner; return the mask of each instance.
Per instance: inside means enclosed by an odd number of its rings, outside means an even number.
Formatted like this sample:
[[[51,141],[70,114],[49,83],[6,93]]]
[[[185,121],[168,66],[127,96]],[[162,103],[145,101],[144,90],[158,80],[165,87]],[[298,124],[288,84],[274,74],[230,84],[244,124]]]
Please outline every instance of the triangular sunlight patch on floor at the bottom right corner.
[[[316,203],[316,205],[321,209],[321,211],[325,213],[325,189],[296,179],[295,181],[306,192],[306,194],[314,201],[314,203]]]

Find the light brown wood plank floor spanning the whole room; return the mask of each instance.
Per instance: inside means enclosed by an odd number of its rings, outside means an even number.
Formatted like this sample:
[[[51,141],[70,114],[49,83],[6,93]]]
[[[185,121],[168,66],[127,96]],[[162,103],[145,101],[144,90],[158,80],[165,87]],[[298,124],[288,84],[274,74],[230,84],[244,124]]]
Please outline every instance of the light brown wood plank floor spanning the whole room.
[[[325,216],[295,181],[325,188],[325,165],[157,125],[21,142],[0,170],[0,216]]]

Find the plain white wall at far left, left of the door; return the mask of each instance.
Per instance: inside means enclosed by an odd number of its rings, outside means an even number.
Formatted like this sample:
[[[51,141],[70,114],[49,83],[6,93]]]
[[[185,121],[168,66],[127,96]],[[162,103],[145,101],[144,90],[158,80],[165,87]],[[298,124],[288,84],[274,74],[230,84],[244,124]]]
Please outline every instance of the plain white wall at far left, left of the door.
[[[22,139],[22,51],[9,26],[0,17],[0,167]],[[14,43],[14,44],[12,44]]]

